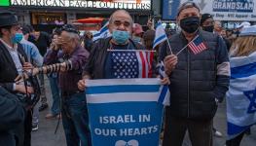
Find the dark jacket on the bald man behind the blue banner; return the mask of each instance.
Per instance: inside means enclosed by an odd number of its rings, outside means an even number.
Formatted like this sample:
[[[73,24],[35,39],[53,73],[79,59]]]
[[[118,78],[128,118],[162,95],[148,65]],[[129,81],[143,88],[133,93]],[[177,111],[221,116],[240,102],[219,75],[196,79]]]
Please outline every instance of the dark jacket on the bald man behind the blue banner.
[[[109,37],[107,39],[99,39],[92,46],[91,54],[89,56],[89,61],[87,62],[83,75],[90,75],[92,79],[103,79],[104,75],[104,64],[106,60],[107,50],[110,48],[110,40],[112,38]],[[131,44],[134,46],[136,50],[144,50],[145,48],[129,40]]]

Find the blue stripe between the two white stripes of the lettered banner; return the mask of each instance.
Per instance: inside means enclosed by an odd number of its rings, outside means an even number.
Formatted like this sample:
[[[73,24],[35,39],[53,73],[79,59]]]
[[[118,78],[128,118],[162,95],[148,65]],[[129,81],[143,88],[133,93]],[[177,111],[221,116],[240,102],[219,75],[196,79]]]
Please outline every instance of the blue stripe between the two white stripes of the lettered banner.
[[[97,86],[86,90],[87,94],[111,93],[111,92],[157,92],[160,85],[115,85]]]

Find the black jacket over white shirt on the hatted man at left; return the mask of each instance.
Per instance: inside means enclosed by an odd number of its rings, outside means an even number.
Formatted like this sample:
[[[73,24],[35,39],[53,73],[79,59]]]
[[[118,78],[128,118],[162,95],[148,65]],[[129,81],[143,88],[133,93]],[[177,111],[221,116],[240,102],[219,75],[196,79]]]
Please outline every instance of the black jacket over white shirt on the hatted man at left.
[[[27,61],[27,57],[20,44],[18,44],[18,54]],[[0,85],[8,91],[13,91],[14,81],[17,76],[16,64],[7,48],[0,41]]]

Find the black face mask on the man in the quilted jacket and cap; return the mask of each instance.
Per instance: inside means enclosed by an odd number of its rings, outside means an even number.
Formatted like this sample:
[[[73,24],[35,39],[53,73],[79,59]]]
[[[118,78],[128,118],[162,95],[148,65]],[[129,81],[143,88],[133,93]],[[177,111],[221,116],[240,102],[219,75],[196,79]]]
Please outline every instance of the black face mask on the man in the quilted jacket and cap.
[[[183,18],[180,20],[180,27],[182,30],[187,33],[194,33],[199,29],[200,26],[200,18],[199,17],[189,17]]]

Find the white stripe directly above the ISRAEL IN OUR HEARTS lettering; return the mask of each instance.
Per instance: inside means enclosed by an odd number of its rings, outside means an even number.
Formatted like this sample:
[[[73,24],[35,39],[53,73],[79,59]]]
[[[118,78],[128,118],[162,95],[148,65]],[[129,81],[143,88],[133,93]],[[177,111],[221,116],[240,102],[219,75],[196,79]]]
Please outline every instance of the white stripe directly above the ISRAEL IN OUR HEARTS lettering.
[[[87,102],[88,103],[110,103],[110,102],[128,102],[128,101],[158,101],[159,96],[160,96],[160,91],[87,94]]]

